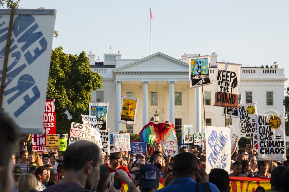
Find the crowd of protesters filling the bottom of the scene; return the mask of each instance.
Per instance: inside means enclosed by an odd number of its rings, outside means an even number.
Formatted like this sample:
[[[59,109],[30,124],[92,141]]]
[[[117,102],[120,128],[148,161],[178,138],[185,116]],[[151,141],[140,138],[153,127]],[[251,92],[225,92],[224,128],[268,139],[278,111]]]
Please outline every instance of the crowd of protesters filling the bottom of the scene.
[[[205,150],[197,147],[182,147],[175,157],[165,157],[159,143],[153,146],[150,157],[119,152],[107,155],[96,144],[80,140],[69,145],[60,157],[53,151],[40,155],[25,149],[16,155],[15,143],[21,137],[18,127],[0,113],[0,128],[5,133],[0,135],[0,144],[5,146],[0,158],[0,191],[4,192],[114,192],[122,191],[122,182],[130,192],[229,192],[231,176],[270,178],[272,191],[289,191],[289,162],[258,161],[257,151],[249,144],[239,152],[234,144],[230,173],[218,168],[207,173]],[[158,189],[160,178],[164,178],[162,189]]]

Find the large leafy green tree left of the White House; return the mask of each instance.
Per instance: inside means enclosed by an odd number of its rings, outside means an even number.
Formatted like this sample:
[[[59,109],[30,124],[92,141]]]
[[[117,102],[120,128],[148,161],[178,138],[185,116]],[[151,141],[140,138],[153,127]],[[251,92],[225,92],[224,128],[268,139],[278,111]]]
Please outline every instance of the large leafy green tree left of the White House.
[[[62,50],[58,47],[51,52],[46,97],[55,99],[57,133],[69,133],[71,122],[82,123],[81,114],[88,114],[91,92],[101,89],[102,77],[89,69],[84,51],[72,55]]]

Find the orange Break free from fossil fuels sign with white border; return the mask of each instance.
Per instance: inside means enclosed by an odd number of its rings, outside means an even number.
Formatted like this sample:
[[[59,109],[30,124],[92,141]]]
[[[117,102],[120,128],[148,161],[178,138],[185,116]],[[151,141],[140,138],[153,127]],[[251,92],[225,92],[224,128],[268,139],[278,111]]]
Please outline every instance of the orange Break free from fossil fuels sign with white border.
[[[136,112],[138,108],[138,99],[121,96],[121,115],[118,123],[136,125]]]

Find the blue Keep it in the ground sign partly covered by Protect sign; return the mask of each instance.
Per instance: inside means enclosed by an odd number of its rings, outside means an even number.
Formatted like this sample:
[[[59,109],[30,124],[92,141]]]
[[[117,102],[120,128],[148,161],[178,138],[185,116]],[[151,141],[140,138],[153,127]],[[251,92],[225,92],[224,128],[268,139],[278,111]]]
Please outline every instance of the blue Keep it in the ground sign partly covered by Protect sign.
[[[97,117],[97,127],[99,130],[106,130],[108,104],[109,102],[89,102],[89,115]]]

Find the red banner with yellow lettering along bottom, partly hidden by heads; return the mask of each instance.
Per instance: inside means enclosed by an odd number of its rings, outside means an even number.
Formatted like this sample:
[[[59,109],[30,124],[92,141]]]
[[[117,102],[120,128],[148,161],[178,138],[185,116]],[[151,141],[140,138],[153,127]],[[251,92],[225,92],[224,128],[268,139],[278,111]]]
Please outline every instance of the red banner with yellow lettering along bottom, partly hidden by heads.
[[[160,186],[158,189],[164,187],[164,179],[160,178]],[[133,180],[133,179],[132,179]],[[271,191],[270,178],[255,178],[255,177],[230,177],[230,192],[255,192],[259,186],[264,187],[266,192]],[[128,185],[122,183],[123,192],[126,192]]]

